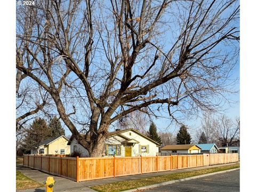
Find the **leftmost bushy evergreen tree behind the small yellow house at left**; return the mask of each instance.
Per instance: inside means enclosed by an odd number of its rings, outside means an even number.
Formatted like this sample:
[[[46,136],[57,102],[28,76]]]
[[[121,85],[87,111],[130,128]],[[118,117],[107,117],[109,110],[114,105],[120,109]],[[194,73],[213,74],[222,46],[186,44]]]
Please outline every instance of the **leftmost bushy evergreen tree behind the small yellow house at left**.
[[[21,149],[24,153],[29,153],[30,149],[39,147],[39,143],[51,137],[51,131],[45,119],[36,118],[27,130]]]

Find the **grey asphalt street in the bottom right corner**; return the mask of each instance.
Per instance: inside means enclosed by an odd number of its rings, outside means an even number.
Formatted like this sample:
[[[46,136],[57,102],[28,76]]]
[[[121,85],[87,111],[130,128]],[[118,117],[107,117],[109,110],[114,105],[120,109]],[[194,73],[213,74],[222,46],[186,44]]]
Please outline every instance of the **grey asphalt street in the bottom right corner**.
[[[239,192],[239,170],[230,171],[193,179],[189,181],[177,182],[171,185],[157,187],[146,191],[171,191],[171,192]]]

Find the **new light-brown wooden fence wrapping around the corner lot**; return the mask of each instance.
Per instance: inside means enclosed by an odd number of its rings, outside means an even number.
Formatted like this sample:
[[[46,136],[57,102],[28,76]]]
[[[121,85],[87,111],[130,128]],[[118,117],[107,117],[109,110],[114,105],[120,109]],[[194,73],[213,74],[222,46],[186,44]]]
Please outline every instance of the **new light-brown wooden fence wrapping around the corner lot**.
[[[23,165],[74,181],[238,162],[238,154],[150,157],[54,157],[25,155]]]

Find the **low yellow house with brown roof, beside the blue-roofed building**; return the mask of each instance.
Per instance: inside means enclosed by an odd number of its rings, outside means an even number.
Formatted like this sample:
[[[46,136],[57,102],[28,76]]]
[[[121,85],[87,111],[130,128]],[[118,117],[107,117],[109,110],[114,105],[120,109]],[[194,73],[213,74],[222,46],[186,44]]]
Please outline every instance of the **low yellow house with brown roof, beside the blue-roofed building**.
[[[161,153],[201,153],[201,148],[197,145],[167,145],[160,149]]]

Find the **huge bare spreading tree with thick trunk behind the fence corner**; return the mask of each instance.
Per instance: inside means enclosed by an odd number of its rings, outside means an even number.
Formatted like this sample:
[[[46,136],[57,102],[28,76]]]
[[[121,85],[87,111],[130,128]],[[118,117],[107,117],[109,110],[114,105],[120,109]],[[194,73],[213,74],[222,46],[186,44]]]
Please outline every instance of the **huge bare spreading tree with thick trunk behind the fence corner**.
[[[237,1],[38,1],[17,11],[17,70],[90,156],[133,111],[216,110],[239,47]],[[26,23],[29,21],[29,24]],[[27,27],[29,25],[29,27]],[[217,99],[218,101],[218,99]],[[177,119],[178,121],[178,119]],[[78,128],[85,127],[86,134]]]

